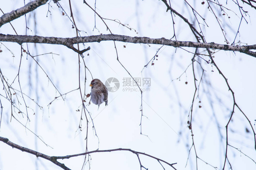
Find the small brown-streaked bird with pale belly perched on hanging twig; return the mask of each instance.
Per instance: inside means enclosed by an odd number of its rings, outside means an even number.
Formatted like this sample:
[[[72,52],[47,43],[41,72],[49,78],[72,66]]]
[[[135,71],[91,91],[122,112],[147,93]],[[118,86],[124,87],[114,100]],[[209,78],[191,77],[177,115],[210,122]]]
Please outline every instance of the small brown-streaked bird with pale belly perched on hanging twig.
[[[99,106],[105,102],[105,106],[107,106],[107,87],[97,78],[93,79],[89,86],[92,87],[90,93],[92,103]]]

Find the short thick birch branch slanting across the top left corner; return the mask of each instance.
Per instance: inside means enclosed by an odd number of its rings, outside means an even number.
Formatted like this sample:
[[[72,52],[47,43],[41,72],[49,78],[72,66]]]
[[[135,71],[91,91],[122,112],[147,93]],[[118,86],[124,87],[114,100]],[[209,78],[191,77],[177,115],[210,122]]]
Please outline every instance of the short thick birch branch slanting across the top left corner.
[[[35,0],[26,4],[24,7],[13,10],[12,12],[6,13],[0,17],[0,27],[12,20],[25,15],[26,13],[35,10],[37,7],[46,4],[48,0]]]

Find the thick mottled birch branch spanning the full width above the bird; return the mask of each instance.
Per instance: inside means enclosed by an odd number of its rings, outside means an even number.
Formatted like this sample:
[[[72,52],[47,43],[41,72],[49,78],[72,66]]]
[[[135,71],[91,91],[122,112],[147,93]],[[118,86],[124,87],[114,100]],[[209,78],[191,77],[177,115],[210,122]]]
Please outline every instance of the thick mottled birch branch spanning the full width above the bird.
[[[151,39],[148,37],[130,37],[115,34],[105,34],[98,36],[85,36],[85,37],[74,37],[74,38],[57,38],[57,37],[43,37],[43,36],[17,36],[17,35],[4,35],[0,34],[0,41],[22,43],[45,43],[45,44],[61,44],[81,54],[84,51],[78,51],[73,47],[73,44],[77,43],[90,43],[100,41],[122,41],[129,43],[142,43],[142,44],[160,44],[173,47],[194,47],[194,48],[209,48],[209,49],[220,49],[225,51],[238,51],[256,57],[256,52],[250,50],[256,49],[256,44],[247,46],[232,46],[225,44],[216,43],[199,43],[191,41],[173,41],[165,38]],[[88,49],[86,49],[88,50]]]

